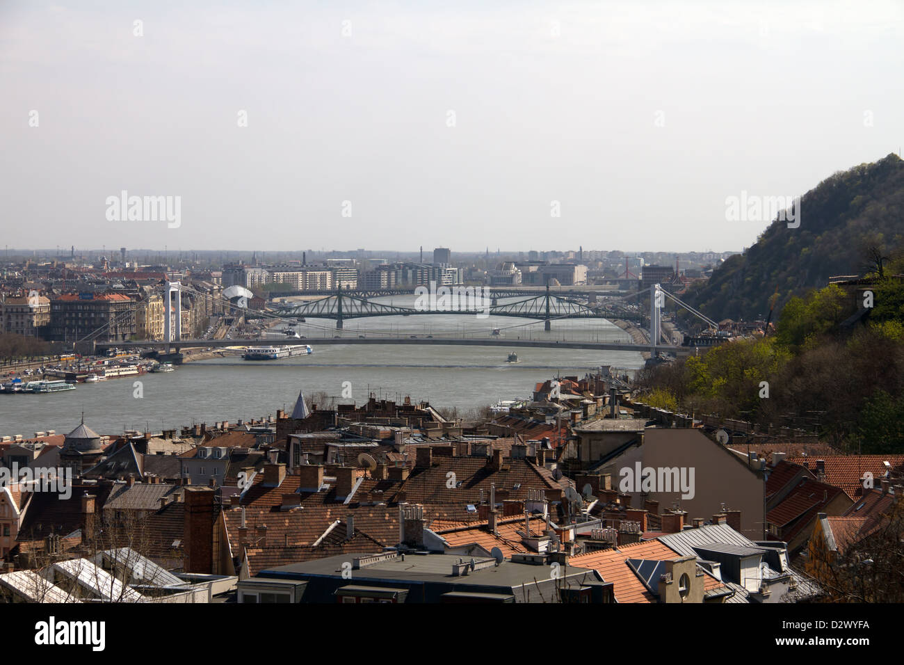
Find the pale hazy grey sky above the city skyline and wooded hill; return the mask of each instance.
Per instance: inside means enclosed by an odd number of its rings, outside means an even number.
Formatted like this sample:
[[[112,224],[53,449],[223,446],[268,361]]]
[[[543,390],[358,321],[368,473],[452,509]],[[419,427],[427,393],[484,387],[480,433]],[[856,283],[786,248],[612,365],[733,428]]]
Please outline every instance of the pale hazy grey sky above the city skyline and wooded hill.
[[[5,1],[0,244],[739,250],[726,197],[899,151],[901,72],[899,0]]]

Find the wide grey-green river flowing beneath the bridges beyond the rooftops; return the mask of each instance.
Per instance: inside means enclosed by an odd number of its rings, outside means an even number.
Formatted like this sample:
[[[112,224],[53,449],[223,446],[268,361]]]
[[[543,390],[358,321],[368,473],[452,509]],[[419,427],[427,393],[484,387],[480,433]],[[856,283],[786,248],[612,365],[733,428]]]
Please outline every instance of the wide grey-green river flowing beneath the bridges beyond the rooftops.
[[[291,410],[300,390],[308,396],[328,395],[326,406],[362,404],[368,393],[374,393],[391,399],[410,395],[412,401],[426,400],[466,413],[501,399],[528,397],[533,385],[557,374],[584,375],[601,365],[625,369],[643,365],[636,352],[589,349],[520,348],[519,362],[508,363],[505,347],[318,347],[317,337],[339,334],[334,325],[334,321],[311,318],[299,324],[306,343],[314,349],[310,356],[257,362],[238,356],[213,358],[186,363],[165,374],[79,384],[64,393],[0,394],[0,434],[27,438],[39,431],[69,432],[79,424],[82,411],[85,423],[105,434],[222,420],[233,423],[276,415],[280,408]],[[499,336],[492,335],[494,328],[500,330]],[[522,318],[419,315],[348,320],[341,334],[630,340],[602,319],[557,320],[552,328],[546,332],[541,321]],[[236,343],[240,345],[239,340]],[[343,399],[344,391],[351,391],[351,399]]]

